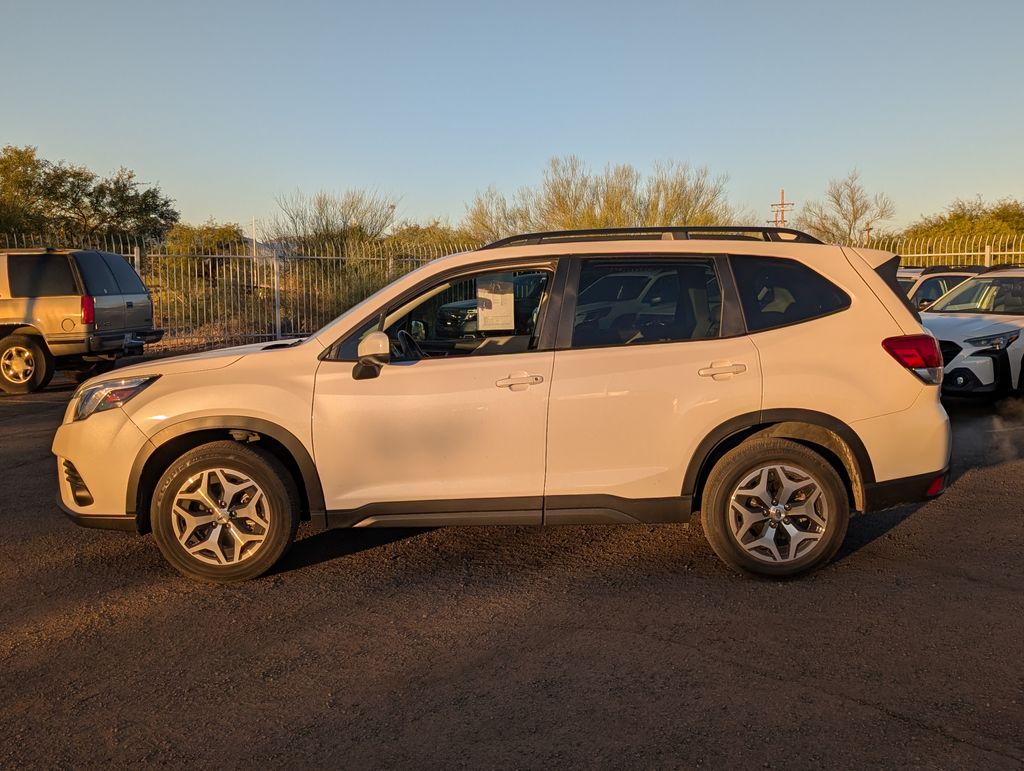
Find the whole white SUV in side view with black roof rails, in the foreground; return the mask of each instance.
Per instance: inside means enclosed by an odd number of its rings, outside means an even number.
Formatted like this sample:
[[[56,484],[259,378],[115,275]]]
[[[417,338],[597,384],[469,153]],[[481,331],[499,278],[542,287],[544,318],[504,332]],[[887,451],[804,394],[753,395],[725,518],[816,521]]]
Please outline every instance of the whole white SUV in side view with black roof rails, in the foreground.
[[[836,554],[851,510],[945,486],[942,363],[898,263],[779,228],[507,239],[409,273],[305,340],[88,381],[53,441],[61,505],[80,524],[152,529],[175,568],[209,581],[269,569],[300,519],[696,512],[733,567],[803,572]],[[624,273],[673,286],[612,327],[578,312]],[[526,275],[543,289],[517,297]],[[466,297],[476,334],[444,334],[438,309]]]

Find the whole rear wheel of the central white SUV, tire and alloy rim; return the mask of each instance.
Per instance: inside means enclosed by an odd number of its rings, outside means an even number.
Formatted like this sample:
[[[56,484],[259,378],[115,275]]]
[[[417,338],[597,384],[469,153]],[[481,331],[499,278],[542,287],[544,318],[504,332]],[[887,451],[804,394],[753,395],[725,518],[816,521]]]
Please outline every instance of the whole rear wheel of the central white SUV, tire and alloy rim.
[[[785,439],[751,439],[726,453],[708,477],[701,506],[715,553],[749,573],[813,570],[846,538],[850,503],[836,469]]]

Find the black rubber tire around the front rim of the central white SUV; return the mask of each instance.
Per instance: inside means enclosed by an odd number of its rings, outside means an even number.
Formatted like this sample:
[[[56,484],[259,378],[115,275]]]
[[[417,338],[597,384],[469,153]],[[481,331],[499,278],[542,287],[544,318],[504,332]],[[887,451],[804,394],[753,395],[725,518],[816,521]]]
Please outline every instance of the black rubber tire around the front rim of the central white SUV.
[[[190,477],[213,469],[229,469],[248,477],[262,491],[268,507],[268,526],[263,530],[263,541],[253,550],[251,556],[245,556],[243,551],[242,559],[233,564],[209,564],[202,557],[189,554],[175,532],[176,524],[181,526],[180,523],[183,522],[173,512],[175,498]],[[231,507],[231,502],[224,503],[226,503],[225,510]],[[204,444],[188,451],[172,463],[157,483],[150,511],[154,539],[171,566],[189,579],[214,583],[246,581],[263,574],[288,551],[299,526],[299,496],[291,474],[270,453],[237,441],[215,441]],[[196,511],[205,515],[211,509],[199,504]],[[264,508],[263,512],[266,511]],[[230,548],[234,542],[224,537],[224,533],[230,534],[230,526],[239,528],[248,524],[245,521],[232,520],[229,524],[223,525],[218,532]],[[201,530],[197,527],[196,534],[186,540],[186,543],[202,541],[203,536],[216,526],[211,522],[209,525],[203,525],[207,529]],[[195,544],[190,545],[191,548],[196,548]],[[217,553],[223,556],[219,548]],[[216,558],[217,554],[209,551],[206,556],[207,559],[211,559]]]

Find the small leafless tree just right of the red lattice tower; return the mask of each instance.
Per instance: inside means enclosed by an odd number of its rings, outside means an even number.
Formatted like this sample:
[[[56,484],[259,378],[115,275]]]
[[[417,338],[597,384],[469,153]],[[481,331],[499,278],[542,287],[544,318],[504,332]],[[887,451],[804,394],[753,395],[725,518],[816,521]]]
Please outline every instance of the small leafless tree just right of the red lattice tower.
[[[796,225],[831,244],[859,244],[870,238],[880,222],[892,219],[896,207],[884,192],[869,196],[860,183],[860,172],[828,182],[823,201],[806,204]]]

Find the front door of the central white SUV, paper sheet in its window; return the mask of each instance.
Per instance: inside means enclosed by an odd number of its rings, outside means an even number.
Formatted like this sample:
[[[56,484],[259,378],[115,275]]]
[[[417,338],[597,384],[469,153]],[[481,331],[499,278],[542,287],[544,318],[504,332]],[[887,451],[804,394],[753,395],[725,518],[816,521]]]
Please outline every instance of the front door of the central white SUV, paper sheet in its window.
[[[544,290],[516,297],[527,274]],[[312,435],[335,523],[540,523],[554,274],[553,263],[513,263],[427,280],[330,350],[316,372]],[[441,309],[467,299],[476,331],[453,337]],[[376,330],[391,338],[391,362],[355,379],[358,341]]]

